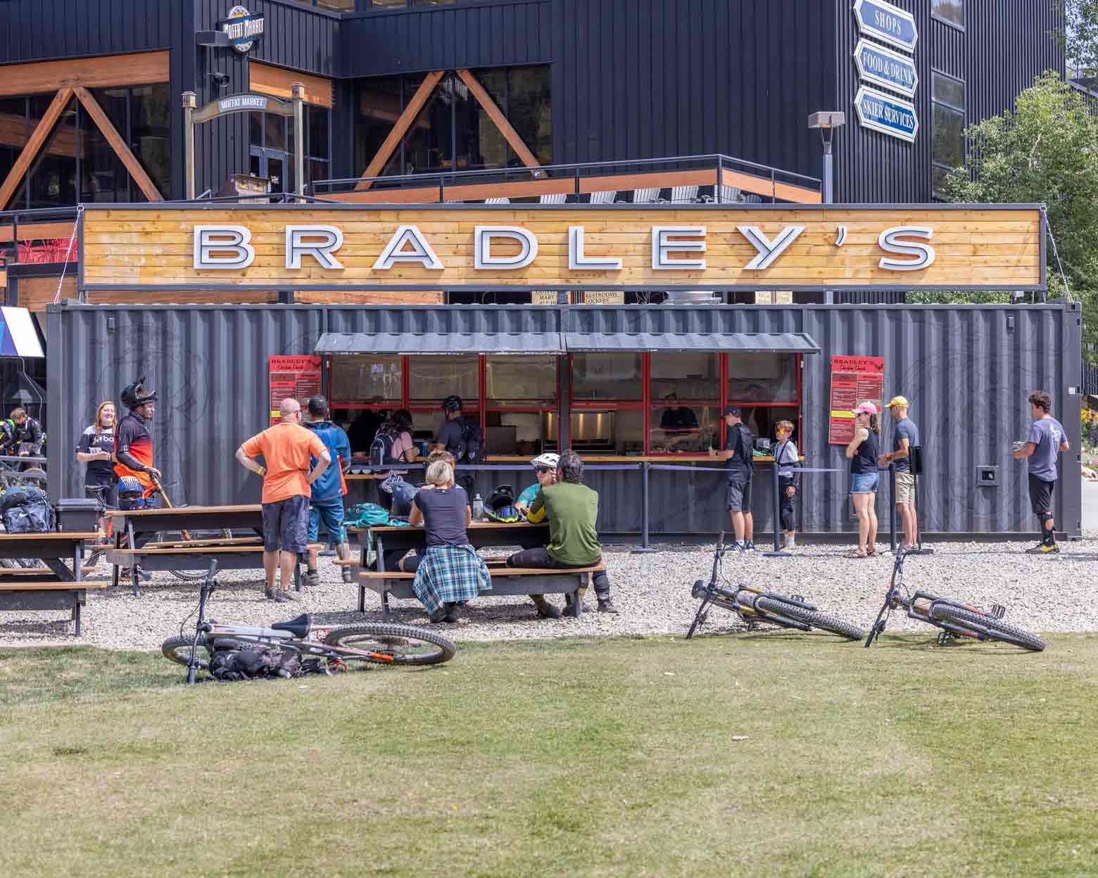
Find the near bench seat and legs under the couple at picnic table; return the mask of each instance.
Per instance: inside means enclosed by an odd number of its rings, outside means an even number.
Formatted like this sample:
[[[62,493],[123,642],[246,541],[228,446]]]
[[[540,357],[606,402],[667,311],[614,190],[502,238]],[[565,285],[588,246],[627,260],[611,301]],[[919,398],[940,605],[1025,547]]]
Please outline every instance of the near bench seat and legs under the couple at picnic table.
[[[505,559],[488,561],[489,574],[492,576],[492,590],[481,597],[513,597],[516,595],[570,595],[572,598],[572,615],[579,619],[583,612],[583,601],[580,600],[580,589],[587,585],[593,573],[606,570],[605,564],[590,567],[508,567]],[[392,618],[389,598],[414,598],[412,590],[414,573],[402,571],[363,570],[358,574],[358,611],[366,612],[366,589],[369,588],[381,596],[382,618]]]

